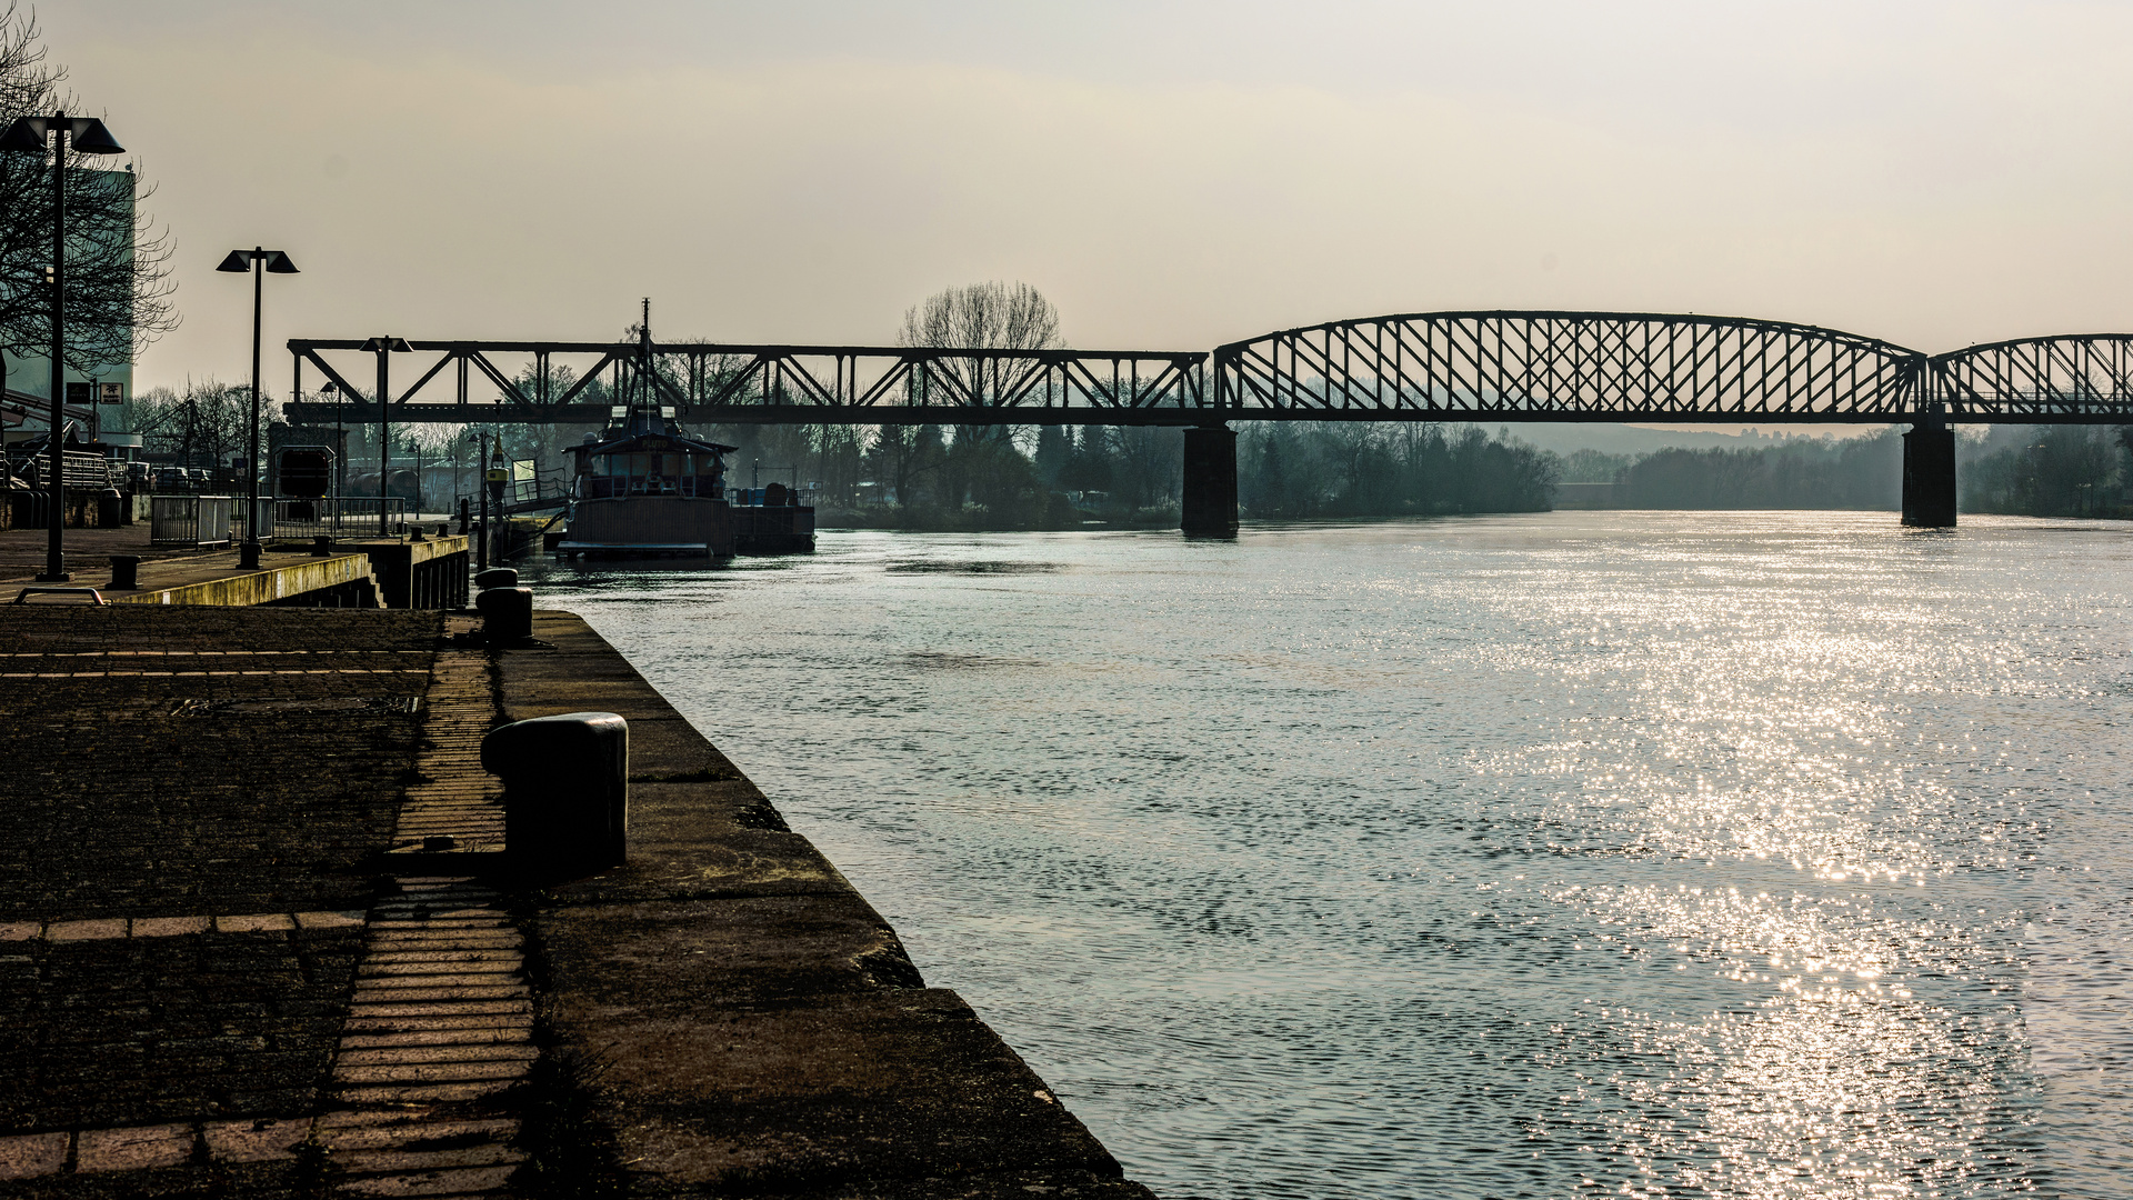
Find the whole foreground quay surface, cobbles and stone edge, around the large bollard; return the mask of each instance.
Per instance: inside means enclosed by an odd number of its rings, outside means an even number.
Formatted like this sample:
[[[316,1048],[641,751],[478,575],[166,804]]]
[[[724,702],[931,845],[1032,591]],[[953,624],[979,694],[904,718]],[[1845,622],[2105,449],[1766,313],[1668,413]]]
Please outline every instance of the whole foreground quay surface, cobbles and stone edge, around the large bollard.
[[[0,606],[0,1196],[1150,1196],[582,621],[471,630]],[[480,739],[584,709],[629,863],[514,884]]]

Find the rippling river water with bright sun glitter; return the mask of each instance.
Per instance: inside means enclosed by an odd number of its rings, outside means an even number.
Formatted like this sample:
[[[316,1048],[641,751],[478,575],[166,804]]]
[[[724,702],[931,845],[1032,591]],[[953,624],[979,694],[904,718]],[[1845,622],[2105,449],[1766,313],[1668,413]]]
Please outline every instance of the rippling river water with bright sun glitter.
[[[1156,1194],[2133,1196],[2133,538],[1886,512],[561,568]]]

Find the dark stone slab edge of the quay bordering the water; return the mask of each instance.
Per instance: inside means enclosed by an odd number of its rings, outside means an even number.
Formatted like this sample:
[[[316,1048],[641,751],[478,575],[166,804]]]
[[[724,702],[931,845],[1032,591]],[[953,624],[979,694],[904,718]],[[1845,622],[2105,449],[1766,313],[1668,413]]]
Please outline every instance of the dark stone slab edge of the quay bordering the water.
[[[499,651],[503,720],[629,722],[629,863],[529,897],[550,1072],[629,1194],[1139,1198],[1118,1162],[582,619]]]

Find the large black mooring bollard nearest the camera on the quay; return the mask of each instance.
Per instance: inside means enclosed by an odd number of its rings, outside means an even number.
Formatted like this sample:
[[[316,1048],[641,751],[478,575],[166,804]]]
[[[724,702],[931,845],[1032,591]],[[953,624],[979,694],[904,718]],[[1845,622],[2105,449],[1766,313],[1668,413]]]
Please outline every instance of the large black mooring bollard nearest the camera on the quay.
[[[508,724],[482,739],[482,769],[503,779],[503,850],[514,871],[574,878],[629,856],[623,717],[563,713]]]

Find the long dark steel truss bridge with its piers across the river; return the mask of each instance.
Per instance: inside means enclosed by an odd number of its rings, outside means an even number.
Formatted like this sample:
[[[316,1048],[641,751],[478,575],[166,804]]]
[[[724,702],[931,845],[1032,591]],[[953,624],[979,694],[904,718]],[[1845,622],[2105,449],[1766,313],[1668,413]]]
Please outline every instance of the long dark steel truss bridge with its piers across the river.
[[[1229,421],[1909,423],[1903,521],[1956,523],[1952,423],[2133,423],[2133,335],[2026,337],[1924,354],[1732,316],[1427,312],[1284,329],[1205,350],[958,350],[655,342],[290,340],[339,404],[296,423],[599,423],[638,372],[676,416],[776,425],[1182,425],[1184,530],[1237,527]],[[435,359],[403,391],[390,348]],[[328,354],[375,354],[365,397]],[[574,365],[578,363],[578,365]],[[567,372],[561,367],[570,367]],[[454,395],[418,401],[439,376]],[[493,397],[476,399],[480,376]],[[388,397],[384,408],[375,397]]]

